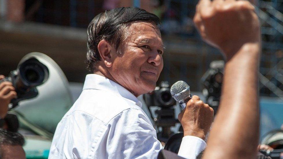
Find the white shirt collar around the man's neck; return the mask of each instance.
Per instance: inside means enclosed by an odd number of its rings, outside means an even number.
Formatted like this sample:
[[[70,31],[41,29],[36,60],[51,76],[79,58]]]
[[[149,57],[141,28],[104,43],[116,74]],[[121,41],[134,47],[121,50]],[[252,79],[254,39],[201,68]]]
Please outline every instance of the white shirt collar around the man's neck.
[[[129,92],[126,88],[119,85],[118,83],[98,74],[87,74],[84,82],[84,89],[97,89],[104,90],[107,92],[113,92],[118,96],[122,96],[128,100],[133,101],[134,104],[142,107],[142,103],[139,99]]]

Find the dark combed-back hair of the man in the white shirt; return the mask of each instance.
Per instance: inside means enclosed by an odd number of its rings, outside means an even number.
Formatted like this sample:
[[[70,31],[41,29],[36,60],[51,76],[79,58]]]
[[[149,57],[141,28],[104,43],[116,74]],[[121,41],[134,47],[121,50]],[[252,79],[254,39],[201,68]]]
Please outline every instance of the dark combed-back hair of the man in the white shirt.
[[[88,25],[88,52],[86,63],[89,70],[94,70],[94,65],[101,60],[97,45],[105,40],[115,46],[121,45],[124,32],[128,24],[135,21],[144,21],[160,25],[160,19],[146,10],[136,7],[121,7],[107,10],[95,16]]]

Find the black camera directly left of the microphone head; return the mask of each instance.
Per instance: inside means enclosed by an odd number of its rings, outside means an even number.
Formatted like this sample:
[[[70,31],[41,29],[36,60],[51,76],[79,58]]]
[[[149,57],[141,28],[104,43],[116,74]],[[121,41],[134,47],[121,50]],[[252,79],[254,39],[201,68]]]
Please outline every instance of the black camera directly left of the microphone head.
[[[148,107],[171,107],[176,104],[174,98],[170,94],[170,85],[168,81],[162,81],[159,87],[155,87],[153,92],[144,94],[144,101]]]

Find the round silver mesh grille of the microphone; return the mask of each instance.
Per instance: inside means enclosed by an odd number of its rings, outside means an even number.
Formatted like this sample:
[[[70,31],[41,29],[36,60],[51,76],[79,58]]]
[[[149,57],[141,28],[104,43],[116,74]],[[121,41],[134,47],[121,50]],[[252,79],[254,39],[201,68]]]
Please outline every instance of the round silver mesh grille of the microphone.
[[[187,88],[189,88],[187,91],[182,92]],[[182,93],[174,96],[175,94],[178,94],[180,92]],[[186,98],[191,96],[190,86],[184,81],[177,81],[176,83],[174,83],[170,89],[170,93],[177,102],[185,100]]]

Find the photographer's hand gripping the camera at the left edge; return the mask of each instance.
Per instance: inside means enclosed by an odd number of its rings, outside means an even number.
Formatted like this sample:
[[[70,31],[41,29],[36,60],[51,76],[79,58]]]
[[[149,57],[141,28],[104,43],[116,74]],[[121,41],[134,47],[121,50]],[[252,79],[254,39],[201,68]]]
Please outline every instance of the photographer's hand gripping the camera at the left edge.
[[[5,76],[0,75],[0,80]],[[0,118],[5,118],[8,112],[8,104],[13,98],[16,98],[17,93],[11,82],[5,81],[0,83]]]

